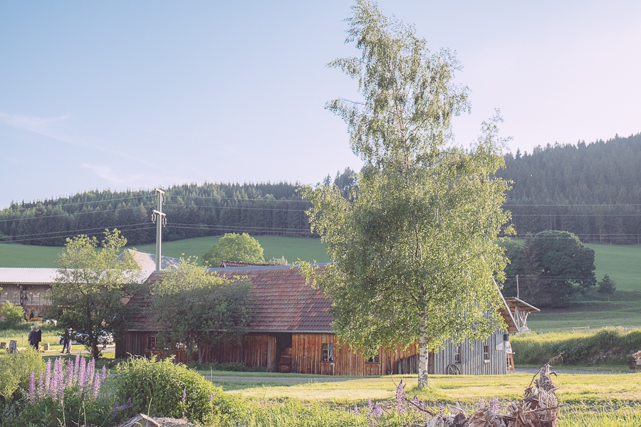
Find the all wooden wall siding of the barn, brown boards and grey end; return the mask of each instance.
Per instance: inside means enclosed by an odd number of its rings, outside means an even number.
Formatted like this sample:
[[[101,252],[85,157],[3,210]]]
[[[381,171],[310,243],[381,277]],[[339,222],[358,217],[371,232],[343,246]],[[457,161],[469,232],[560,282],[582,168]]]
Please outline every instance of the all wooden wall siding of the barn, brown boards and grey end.
[[[116,357],[127,357],[127,353],[138,356],[160,354],[157,350],[147,349],[147,337],[153,332],[130,332],[121,342],[116,343]],[[454,364],[464,375],[506,374],[506,354],[504,333],[495,332],[485,341],[447,344],[439,352],[430,354],[429,373],[447,374],[449,364]],[[336,347],[335,334],[301,333],[292,334],[291,372],[320,375],[389,375],[416,374],[418,356],[415,346],[407,350],[383,349],[378,351],[379,362],[368,363],[363,354],[353,351],[349,346]],[[323,344],[334,344],[334,362],[321,362]],[[461,348],[460,363],[455,361],[457,347]],[[484,346],[489,347],[489,359],[484,359]],[[204,361],[219,363],[239,362],[247,367],[266,367],[268,371],[278,371],[275,334],[248,334],[240,346],[212,346],[205,350]],[[187,357],[185,352],[177,352],[178,362],[192,362],[198,354]]]

